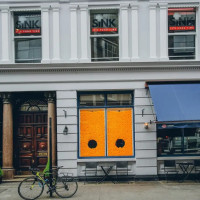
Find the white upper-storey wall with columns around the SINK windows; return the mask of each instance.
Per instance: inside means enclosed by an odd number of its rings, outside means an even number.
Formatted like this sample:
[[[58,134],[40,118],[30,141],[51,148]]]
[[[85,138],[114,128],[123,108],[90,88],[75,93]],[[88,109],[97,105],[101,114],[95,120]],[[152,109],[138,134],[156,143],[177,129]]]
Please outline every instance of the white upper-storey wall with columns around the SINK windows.
[[[167,60],[167,7],[168,5],[183,5],[183,1],[176,2],[163,0],[151,1],[72,1],[72,0],[54,0],[48,2],[46,0],[38,1],[1,1],[0,2],[0,27],[2,25],[2,12],[9,9],[9,33],[8,43],[9,60],[6,63],[14,63],[14,45],[13,45],[13,17],[12,12],[16,10],[40,10],[43,7],[49,9],[49,30],[42,29],[43,39],[48,37],[49,45],[43,44],[43,48],[49,48],[50,60],[53,63],[70,63],[70,62],[91,62],[90,61],[90,17],[89,10],[91,8],[118,8],[119,9],[119,38],[120,38],[120,61],[150,61],[150,60]],[[188,3],[188,2],[187,2]],[[188,3],[189,6],[199,5],[197,0]],[[56,11],[58,9],[58,11]],[[59,14],[59,19],[56,12]],[[85,19],[81,19],[81,16]],[[87,16],[87,17],[86,17]],[[197,18],[199,11],[197,12]],[[128,17],[128,22],[127,22]],[[137,18],[136,20],[134,20]],[[55,20],[59,20],[55,22]],[[151,19],[151,20],[149,20]],[[43,20],[43,19],[42,19]],[[54,23],[55,22],[55,23]],[[198,22],[198,21],[197,21]],[[45,23],[45,22],[44,22]],[[126,23],[126,24],[125,24]],[[198,24],[198,23],[197,23]],[[56,28],[54,28],[56,27]],[[81,30],[84,27],[87,31]],[[123,30],[122,30],[123,28]],[[77,32],[71,32],[71,30]],[[124,30],[126,29],[126,30]],[[197,28],[198,30],[198,28]],[[0,28],[0,35],[5,30]],[[83,32],[84,31],[84,32]],[[164,31],[164,32],[163,32]],[[137,41],[134,41],[134,38]],[[199,37],[199,34],[198,34]],[[86,47],[81,50],[81,44]],[[0,39],[0,45],[3,44]],[[57,42],[58,41],[58,42]],[[198,39],[199,41],[199,39]],[[49,46],[49,47],[48,47]],[[58,52],[60,51],[60,53]],[[123,52],[122,52],[123,51]],[[135,52],[136,51],[136,52]],[[72,53],[73,52],[73,53]],[[199,51],[198,51],[199,52]],[[56,55],[55,54],[59,54]],[[84,54],[84,55],[83,55]],[[135,54],[135,55],[133,55]],[[2,51],[0,51],[0,63],[2,60]],[[199,60],[199,56],[197,56]],[[43,61],[42,61],[43,62]],[[44,61],[45,62],[45,61]]]

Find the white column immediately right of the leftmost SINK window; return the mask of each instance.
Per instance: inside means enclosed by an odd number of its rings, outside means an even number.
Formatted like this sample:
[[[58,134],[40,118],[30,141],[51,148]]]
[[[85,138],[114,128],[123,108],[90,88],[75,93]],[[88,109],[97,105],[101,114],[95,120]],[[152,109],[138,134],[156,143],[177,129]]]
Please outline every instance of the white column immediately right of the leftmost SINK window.
[[[50,62],[49,54],[49,7],[42,7],[42,63]]]

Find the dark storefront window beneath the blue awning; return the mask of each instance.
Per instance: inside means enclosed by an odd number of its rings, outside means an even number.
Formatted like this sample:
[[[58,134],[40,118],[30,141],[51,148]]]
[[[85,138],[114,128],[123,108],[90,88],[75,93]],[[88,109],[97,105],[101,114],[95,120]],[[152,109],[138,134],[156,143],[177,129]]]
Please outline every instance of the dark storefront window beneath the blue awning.
[[[157,131],[158,156],[200,155],[200,128]]]

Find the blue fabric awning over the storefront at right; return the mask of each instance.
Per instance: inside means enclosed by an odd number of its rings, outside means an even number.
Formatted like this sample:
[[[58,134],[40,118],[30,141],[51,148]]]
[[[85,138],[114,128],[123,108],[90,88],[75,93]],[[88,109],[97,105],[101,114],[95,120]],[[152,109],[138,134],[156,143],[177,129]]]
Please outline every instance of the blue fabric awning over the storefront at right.
[[[200,83],[149,84],[149,88],[158,123],[172,124],[165,128],[200,127]]]

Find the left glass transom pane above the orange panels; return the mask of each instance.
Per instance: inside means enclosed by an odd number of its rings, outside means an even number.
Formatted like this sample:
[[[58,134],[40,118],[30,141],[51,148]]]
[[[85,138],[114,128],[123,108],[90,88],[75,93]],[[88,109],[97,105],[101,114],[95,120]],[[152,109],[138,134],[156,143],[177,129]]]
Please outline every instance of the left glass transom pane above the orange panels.
[[[104,95],[103,94],[81,95],[80,106],[104,106]]]

